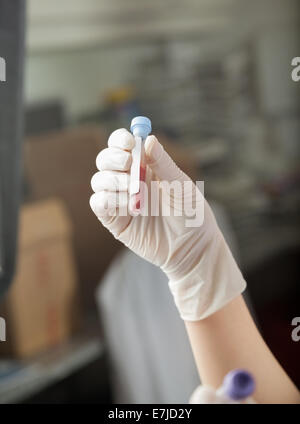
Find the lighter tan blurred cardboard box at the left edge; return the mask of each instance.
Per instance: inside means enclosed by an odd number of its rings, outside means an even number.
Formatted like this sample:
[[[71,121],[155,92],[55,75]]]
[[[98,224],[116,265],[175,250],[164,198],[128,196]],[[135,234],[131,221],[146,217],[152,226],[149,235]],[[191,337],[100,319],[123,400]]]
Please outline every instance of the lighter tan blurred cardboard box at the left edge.
[[[77,308],[71,223],[60,200],[23,206],[17,270],[1,316],[2,355],[25,358],[66,340]]]

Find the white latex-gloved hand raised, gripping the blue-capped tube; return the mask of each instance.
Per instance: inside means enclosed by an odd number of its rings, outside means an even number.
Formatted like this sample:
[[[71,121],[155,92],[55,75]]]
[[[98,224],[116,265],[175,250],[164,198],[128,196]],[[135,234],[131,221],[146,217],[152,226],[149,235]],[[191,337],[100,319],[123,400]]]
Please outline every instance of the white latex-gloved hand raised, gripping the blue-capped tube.
[[[159,216],[150,216],[150,213],[149,216],[131,216],[128,213],[121,216],[128,208],[129,171],[134,145],[133,135],[125,129],[111,134],[108,148],[101,151],[96,159],[100,172],[91,181],[95,192],[90,199],[91,208],[116,239],[166,273],[184,320],[203,319],[238,296],[246,283],[200,190],[177,167],[153,135],[145,142],[146,182],[149,192],[152,181],[160,182]],[[164,187],[163,181],[177,181],[183,190],[173,193]],[[176,216],[183,196],[194,202],[196,209],[204,204],[202,225],[187,227],[186,220],[190,216]],[[151,200],[148,201],[150,211]],[[166,205],[170,206],[171,216],[161,213]]]

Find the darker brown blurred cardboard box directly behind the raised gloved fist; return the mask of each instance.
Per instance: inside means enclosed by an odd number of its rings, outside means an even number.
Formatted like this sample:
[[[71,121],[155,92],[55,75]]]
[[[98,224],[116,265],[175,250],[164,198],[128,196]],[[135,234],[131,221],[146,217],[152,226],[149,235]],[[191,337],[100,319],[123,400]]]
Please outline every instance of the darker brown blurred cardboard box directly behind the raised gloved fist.
[[[107,145],[98,126],[83,126],[31,137],[25,142],[25,176],[30,200],[62,199],[73,226],[80,301],[87,314],[96,305],[94,293],[111,259],[121,248],[90,209],[91,178],[96,156]]]

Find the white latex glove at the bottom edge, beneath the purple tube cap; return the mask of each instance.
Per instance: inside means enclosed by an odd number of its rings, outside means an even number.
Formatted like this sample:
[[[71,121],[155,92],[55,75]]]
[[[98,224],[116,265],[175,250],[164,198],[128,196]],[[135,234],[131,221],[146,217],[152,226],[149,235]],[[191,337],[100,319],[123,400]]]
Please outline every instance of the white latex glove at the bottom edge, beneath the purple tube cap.
[[[198,386],[190,397],[190,404],[253,404],[255,403],[251,397],[241,401],[233,401],[218,393],[210,386]]]

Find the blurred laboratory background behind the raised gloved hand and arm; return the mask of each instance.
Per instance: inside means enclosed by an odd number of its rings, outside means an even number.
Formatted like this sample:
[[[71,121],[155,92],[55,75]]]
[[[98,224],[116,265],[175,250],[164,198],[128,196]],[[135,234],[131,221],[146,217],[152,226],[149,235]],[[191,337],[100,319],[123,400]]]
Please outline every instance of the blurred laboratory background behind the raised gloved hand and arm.
[[[1,403],[179,403],[199,384],[166,277],[89,207],[97,153],[136,115],[205,181],[256,323],[300,388],[298,9],[297,0],[27,1]]]

